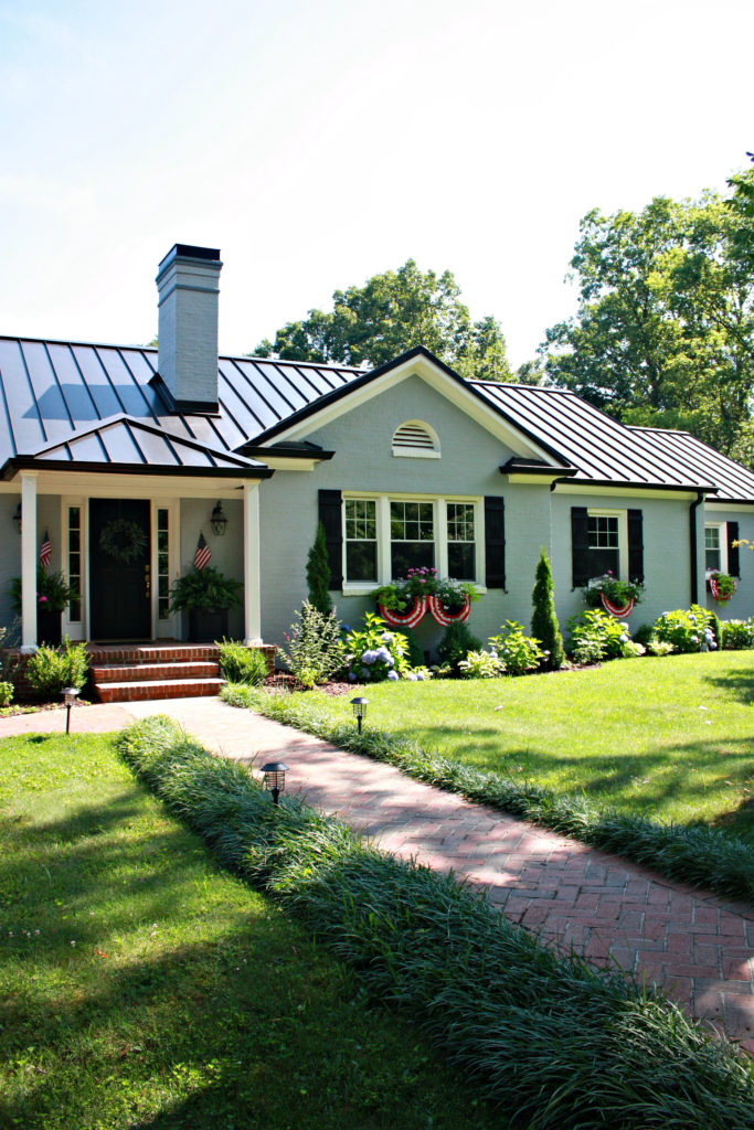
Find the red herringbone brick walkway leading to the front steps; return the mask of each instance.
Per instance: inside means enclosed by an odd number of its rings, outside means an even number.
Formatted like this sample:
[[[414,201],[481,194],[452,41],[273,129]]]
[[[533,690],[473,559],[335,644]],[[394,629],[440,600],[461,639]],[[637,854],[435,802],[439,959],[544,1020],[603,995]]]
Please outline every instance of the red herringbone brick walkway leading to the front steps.
[[[671,883],[625,860],[419,784],[397,770],[216,698],[90,706],[72,729],[120,729],[165,713],[208,748],[272,757],[288,791],[338,812],[387,851],[452,869],[529,930],[597,964],[645,973],[754,1054],[754,909]],[[86,718],[85,718],[86,715]],[[64,712],[0,720],[0,737],[64,729]]]

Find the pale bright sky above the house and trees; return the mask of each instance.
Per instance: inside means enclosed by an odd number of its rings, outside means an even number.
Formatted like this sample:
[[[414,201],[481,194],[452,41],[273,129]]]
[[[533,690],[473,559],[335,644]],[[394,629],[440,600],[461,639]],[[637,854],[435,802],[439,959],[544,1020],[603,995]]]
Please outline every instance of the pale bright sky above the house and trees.
[[[147,341],[183,242],[223,350],[410,257],[519,364],[581,216],[746,165],[753,43],[749,0],[0,0],[0,332]]]

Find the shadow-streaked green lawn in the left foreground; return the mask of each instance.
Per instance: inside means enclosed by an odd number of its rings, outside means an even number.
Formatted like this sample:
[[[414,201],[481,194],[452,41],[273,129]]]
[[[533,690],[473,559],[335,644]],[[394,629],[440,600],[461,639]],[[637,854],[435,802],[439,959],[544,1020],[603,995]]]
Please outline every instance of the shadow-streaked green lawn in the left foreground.
[[[501,1127],[107,738],[0,742],[0,852],[1,1127]]]

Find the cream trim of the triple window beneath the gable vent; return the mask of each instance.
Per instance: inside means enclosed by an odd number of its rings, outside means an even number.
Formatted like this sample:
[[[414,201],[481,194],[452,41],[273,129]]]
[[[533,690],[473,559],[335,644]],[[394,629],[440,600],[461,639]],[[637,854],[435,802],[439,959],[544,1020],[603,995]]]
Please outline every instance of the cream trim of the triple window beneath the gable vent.
[[[374,502],[376,511],[376,534],[378,534],[378,580],[375,583],[369,581],[348,581],[346,571],[346,502],[353,498],[365,498]],[[369,596],[374,589],[383,584],[390,584],[393,577],[390,575],[390,503],[391,502],[430,502],[433,504],[434,519],[434,559],[435,567],[440,576],[448,576],[448,503],[466,502],[474,506],[474,531],[475,542],[475,573],[477,577],[484,576],[484,498],[471,495],[419,495],[402,494],[397,490],[384,493],[370,493],[362,490],[348,490],[343,494],[341,529],[343,538],[343,593],[346,597]],[[477,580],[474,581],[477,592],[486,592],[486,588]]]

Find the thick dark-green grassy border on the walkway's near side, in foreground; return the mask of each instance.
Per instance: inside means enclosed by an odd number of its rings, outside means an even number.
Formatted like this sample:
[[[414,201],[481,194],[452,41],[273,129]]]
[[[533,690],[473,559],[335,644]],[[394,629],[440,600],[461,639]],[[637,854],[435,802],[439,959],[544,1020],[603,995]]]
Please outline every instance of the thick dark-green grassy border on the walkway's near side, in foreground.
[[[278,898],[527,1130],[745,1130],[754,1074],[622,974],[564,957],[452,877],[364,844],[150,718],[118,746],[219,861]]]

